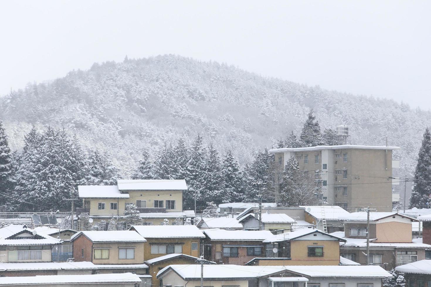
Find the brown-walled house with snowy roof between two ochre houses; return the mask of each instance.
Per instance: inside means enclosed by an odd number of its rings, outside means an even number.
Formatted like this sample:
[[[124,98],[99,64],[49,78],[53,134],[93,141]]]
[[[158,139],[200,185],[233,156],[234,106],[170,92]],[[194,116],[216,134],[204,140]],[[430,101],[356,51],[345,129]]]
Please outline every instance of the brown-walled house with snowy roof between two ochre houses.
[[[244,265],[265,253],[262,241],[273,234],[267,230],[244,231],[204,229],[204,258],[216,263]]]

